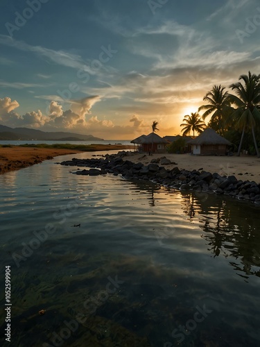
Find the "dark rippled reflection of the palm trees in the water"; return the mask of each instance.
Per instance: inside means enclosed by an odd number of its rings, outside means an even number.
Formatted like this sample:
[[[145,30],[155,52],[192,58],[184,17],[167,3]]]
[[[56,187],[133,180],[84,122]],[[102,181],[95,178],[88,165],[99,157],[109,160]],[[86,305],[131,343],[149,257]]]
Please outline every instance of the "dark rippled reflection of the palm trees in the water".
[[[192,193],[191,193],[192,196]],[[200,213],[200,228],[203,233],[201,237],[209,245],[208,251],[218,255],[224,255],[229,260],[229,264],[236,271],[237,275],[248,278],[248,275],[260,277],[260,246],[257,247],[257,222],[255,221],[253,210],[247,210],[248,219],[239,219],[241,210],[244,211],[243,205],[239,210],[234,210],[233,205],[222,200],[214,202],[214,214],[212,214],[211,199],[187,198],[185,196],[183,203],[185,205],[184,213],[193,216],[193,212]],[[246,243],[245,243],[246,240]],[[255,269],[255,267],[258,269]]]

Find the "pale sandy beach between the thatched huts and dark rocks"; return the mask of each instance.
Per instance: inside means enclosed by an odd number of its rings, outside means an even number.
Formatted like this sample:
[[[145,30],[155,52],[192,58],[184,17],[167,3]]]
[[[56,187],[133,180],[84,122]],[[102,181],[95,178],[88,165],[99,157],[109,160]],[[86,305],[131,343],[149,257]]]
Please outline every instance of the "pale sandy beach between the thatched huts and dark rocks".
[[[237,156],[197,156],[187,154],[153,154],[146,155],[133,153],[129,160],[132,162],[143,162],[144,164],[150,163],[155,158],[166,157],[171,162],[176,164],[165,165],[166,169],[173,169],[178,167],[179,169],[185,169],[192,171],[193,169],[209,171],[211,174],[214,172],[220,174],[220,176],[236,176],[238,180],[254,180],[256,183],[260,183],[260,158],[250,155]]]

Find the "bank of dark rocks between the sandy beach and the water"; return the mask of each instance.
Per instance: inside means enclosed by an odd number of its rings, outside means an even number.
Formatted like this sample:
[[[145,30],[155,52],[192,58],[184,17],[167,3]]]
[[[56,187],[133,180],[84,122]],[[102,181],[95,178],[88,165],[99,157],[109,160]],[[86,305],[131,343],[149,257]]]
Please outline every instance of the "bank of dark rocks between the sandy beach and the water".
[[[61,162],[62,165],[89,167],[78,169],[75,174],[97,176],[103,174],[121,175],[125,180],[150,180],[153,183],[193,192],[211,192],[250,201],[260,205],[260,185],[254,181],[238,180],[235,176],[220,176],[217,173],[199,170],[166,169],[168,164],[176,164],[165,157],[153,159],[145,165],[127,159],[129,152],[104,155],[103,158],[77,159]]]

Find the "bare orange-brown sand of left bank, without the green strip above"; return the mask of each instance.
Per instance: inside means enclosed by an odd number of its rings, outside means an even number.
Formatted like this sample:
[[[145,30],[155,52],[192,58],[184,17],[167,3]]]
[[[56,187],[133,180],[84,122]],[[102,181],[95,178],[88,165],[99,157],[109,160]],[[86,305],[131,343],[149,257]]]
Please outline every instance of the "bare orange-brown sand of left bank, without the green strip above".
[[[122,150],[123,145],[94,145],[92,151]],[[129,146],[127,146],[129,148]],[[0,147],[0,174],[23,169],[44,160],[53,159],[57,155],[82,153],[71,149],[40,149],[32,147]]]

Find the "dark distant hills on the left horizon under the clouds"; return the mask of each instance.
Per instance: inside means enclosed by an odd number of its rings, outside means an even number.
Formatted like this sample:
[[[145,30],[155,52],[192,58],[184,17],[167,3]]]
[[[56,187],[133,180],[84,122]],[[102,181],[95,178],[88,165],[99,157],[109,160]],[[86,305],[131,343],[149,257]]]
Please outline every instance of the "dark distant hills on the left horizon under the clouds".
[[[32,140],[37,141],[103,141],[99,137],[92,135],[82,135],[77,133],[65,133],[62,131],[46,132],[31,128],[10,128],[0,125],[0,140]]]

